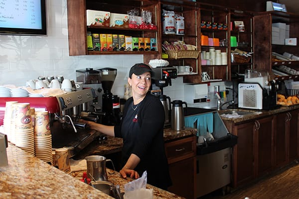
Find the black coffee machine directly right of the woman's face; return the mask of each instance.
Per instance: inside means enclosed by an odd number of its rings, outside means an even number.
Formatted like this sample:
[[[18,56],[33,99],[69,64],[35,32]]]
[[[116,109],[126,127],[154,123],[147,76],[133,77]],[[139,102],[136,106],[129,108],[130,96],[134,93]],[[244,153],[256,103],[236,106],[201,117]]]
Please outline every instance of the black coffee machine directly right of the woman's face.
[[[150,93],[159,98],[161,101],[164,112],[165,121],[164,128],[171,126],[170,121],[170,98],[163,95],[163,88],[171,86],[171,79],[177,77],[177,70],[174,67],[156,67],[152,68],[153,74],[151,76]],[[168,101],[168,103],[167,103]]]

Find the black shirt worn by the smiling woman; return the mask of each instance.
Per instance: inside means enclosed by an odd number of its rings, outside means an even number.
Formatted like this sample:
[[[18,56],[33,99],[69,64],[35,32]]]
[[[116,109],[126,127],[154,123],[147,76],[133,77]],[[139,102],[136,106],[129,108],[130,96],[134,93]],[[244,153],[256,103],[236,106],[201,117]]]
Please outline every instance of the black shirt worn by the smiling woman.
[[[134,153],[141,161],[135,171],[142,176],[148,173],[148,183],[167,190],[171,185],[168,163],[164,150],[164,109],[160,100],[150,94],[138,105],[133,98],[127,100],[120,126],[115,126],[116,137],[124,140],[122,164]]]

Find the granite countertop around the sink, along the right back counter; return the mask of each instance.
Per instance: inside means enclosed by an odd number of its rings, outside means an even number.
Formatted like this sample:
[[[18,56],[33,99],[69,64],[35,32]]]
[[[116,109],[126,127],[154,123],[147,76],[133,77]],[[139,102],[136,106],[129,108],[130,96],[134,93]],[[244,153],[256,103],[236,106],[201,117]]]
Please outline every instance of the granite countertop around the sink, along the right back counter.
[[[295,109],[298,109],[298,108],[299,108],[299,104],[295,104],[295,105],[290,105],[290,106],[281,106],[279,108],[271,109],[271,110],[235,108],[235,109],[219,110],[218,113],[219,113],[222,120],[228,120],[228,121],[231,121],[233,123],[240,123],[240,122],[244,122],[244,121],[247,121],[247,120],[256,119],[256,118],[259,118],[259,117],[264,117],[264,116],[277,114],[277,113],[280,113],[280,112],[295,110]],[[245,114],[245,115],[241,115],[240,117],[236,117],[236,118],[228,118],[228,117],[222,115],[223,113],[226,113],[227,111],[232,111],[232,110],[248,111],[250,113]]]

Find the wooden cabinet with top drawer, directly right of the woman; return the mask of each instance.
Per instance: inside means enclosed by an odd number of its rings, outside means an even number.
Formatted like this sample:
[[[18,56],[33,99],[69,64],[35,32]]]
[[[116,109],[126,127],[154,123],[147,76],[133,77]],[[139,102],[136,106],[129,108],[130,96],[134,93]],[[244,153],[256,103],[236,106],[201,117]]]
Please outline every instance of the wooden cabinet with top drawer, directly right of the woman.
[[[194,199],[196,175],[196,136],[165,143],[172,186],[168,188],[178,196]]]

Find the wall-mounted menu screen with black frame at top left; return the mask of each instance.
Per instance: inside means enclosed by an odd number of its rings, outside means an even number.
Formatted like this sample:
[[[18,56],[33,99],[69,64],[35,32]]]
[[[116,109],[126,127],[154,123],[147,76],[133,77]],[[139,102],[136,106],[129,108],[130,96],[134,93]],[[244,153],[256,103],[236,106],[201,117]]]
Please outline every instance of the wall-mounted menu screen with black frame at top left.
[[[1,0],[0,34],[47,35],[46,0]]]

